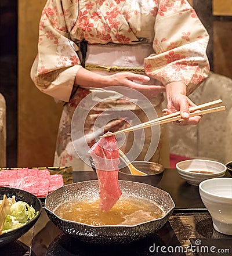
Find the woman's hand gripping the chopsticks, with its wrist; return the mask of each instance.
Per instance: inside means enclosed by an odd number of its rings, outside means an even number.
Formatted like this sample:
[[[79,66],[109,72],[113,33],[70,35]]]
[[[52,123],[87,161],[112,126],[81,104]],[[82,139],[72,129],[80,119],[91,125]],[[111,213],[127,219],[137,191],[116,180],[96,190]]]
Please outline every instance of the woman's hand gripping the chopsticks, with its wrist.
[[[171,82],[165,86],[167,108],[163,110],[165,114],[180,111],[182,120],[174,122],[176,125],[195,125],[201,120],[201,116],[189,117],[189,107],[195,104],[186,96],[186,85],[183,82]]]

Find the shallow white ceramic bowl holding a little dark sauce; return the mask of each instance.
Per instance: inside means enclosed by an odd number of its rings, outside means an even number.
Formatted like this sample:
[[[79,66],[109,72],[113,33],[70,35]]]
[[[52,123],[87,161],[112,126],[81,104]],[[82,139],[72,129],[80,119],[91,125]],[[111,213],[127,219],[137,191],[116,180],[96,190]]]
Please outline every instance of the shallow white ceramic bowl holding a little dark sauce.
[[[179,175],[189,184],[198,186],[205,179],[219,178],[225,175],[226,165],[204,159],[192,159],[181,161],[176,164]],[[210,174],[198,173],[194,171],[208,171]]]

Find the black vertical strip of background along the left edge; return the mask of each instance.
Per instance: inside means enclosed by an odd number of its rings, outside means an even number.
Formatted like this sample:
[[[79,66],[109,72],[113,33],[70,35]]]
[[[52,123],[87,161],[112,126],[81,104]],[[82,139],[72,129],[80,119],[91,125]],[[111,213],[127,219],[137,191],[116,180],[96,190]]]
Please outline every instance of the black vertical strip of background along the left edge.
[[[6,99],[6,163],[8,167],[15,167],[17,166],[17,0],[0,1],[0,31],[0,93]]]

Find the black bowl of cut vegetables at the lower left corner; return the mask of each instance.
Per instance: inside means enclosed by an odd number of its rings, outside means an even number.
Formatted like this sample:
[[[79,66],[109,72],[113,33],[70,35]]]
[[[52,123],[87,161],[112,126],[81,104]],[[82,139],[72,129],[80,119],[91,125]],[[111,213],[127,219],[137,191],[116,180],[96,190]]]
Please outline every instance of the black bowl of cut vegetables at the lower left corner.
[[[0,208],[3,197],[5,197],[5,212],[2,217],[5,221],[0,232],[0,246],[24,235],[35,225],[42,211],[41,201],[24,190],[0,187]]]

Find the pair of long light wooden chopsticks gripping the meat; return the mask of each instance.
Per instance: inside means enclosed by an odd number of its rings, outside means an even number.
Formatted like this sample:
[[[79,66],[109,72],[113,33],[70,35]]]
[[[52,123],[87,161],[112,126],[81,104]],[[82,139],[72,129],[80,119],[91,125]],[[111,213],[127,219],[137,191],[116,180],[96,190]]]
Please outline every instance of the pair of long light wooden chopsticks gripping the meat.
[[[225,110],[226,109],[225,106],[213,107],[211,109],[200,110],[200,109],[204,109],[205,107],[215,106],[216,104],[220,104],[220,103],[222,103],[222,100],[218,99],[218,100],[213,100],[212,102],[200,104],[198,106],[190,107],[189,108],[190,117],[203,116],[204,114],[209,114],[209,113]],[[199,110],[199,111],[191,113],[191,112],[196,111],[196,110]],[[117,135],[117,134],[122,134],[122,133],[126,133],[126,132],[131,132],[131,131],[135,131],[137,129],[152,127],[152,126],[158,125],[158,124],[166,124],[168,122],[174,122],[174,121],[178,121],[180,119],[182,119],[182,117],[180,116],[180,111],[177,111],[175,113],[168,114],[166,116],[159,117],[159,118],[156,118],[156,119],[151,120],[151,121],[143,122],[142,124],[138,124],[138,125],[135,125],[133,127],[122,129],[121,131],[113,132],[111,134],[104,134],[104,135],[100,136],[100,138],[108,137],[108,136],[112,136],[112,135]]]

